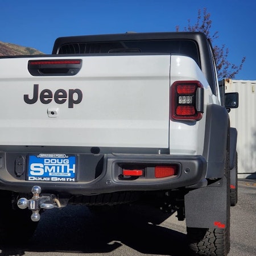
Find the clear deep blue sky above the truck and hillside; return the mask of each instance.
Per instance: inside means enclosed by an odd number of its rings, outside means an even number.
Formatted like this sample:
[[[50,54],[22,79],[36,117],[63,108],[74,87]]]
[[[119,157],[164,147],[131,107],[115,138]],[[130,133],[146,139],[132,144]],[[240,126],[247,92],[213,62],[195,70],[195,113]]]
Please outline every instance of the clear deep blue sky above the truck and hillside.
[[[229,48],[228,60],[243,68],[235,77],[256,80],[256,1],[251,0],[0,0],[0,41],[51,53],[59,36],[126,31],[183,30],[199,9],[212,19],[213,44]]]

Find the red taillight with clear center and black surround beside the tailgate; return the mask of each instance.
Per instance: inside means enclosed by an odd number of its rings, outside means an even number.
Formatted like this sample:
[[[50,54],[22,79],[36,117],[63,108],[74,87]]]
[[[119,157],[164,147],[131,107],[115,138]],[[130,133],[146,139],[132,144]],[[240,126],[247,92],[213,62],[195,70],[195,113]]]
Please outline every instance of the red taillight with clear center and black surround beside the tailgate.
[[[170,118],[198,121],[204,113],[204,88],[199,81],[176,81],[171,86]]]

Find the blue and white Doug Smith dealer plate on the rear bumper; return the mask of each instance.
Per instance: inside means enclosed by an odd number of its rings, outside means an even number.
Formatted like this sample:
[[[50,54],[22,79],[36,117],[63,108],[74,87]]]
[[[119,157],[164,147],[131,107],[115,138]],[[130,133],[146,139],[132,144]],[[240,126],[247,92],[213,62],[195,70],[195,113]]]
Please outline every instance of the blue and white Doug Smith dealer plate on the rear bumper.
[[[27,180],[76,181],[76,156],[39,154],[28,156]]]

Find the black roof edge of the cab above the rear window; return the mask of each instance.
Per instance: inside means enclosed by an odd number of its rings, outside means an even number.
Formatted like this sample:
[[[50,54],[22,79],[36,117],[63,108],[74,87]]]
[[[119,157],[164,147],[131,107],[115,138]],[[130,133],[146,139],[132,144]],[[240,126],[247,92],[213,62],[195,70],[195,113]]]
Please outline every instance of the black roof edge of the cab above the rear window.
[[[63,36],[55,40],[52,53],[55,54],[60,46],[71,43],[161,39],[190,39],[202,42],[207,40],[207,37],[203,32],[126,32],[123,34]]]

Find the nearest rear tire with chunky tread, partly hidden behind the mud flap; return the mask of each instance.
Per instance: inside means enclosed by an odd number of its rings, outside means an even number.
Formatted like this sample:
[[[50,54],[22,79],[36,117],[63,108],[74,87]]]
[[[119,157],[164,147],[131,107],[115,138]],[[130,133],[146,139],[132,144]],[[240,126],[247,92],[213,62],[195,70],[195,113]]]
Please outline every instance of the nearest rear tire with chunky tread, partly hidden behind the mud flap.
[[[229,154],[226,153],[225,176],[227,186],[227,222],[224,229],[188,228],[187,239],[190,255],[226,256],[230,250],[230,171]]]

